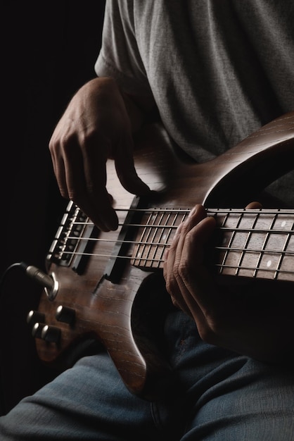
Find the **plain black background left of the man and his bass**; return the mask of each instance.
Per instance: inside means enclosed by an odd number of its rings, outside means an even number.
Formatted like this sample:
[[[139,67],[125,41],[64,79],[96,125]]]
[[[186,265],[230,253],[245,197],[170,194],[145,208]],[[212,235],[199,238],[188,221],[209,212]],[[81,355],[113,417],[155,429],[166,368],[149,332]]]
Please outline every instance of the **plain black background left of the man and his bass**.
[[[48,144],[72,94],[95,77],[105,1],[20,2],[2,8],[0,273],[25,261],[44,269],[66,206]],[[20,268],[0,292],[1,413],[51,375],[26,323],[40,288]]]

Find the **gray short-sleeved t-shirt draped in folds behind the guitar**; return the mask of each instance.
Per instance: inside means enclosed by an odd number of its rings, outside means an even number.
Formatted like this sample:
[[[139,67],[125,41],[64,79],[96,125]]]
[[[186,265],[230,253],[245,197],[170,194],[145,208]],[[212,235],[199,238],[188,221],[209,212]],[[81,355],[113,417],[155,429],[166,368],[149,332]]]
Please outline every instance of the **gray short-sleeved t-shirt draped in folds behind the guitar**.
[[[207,161],[294,109],[293,23],[293,0],[107,0],[95,70]]]

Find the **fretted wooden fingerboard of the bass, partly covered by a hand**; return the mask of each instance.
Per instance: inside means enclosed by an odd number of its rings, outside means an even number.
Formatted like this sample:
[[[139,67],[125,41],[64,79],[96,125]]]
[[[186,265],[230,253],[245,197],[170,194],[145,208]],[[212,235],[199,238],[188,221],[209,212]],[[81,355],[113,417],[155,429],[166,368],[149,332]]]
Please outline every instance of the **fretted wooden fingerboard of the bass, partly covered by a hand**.
[[[143,217],[132,264],[141,269],[163,267],[179,223],[189,210],[151,209]],[[294,210],[210,209],[216,273],[248,278],[294,281]]]

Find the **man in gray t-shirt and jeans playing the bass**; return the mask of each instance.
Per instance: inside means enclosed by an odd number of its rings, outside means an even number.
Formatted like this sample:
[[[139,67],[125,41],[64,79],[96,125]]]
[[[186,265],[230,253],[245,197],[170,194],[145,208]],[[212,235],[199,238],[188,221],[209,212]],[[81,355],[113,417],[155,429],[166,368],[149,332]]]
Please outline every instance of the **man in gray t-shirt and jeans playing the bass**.
[[[61,194],[98,228],[115,230],[106,161],[115,160],[126,190],[148,195],[133,134],[155,108],[198,162],[293,110],[293,17],[290,0],[107,1],[98,77],[72,98],[50,142]],[[271,190],[285,199],[290,185],[293,174]],[[167,395],[134,397],[101,352],[1,418],[2,438],[294,439],[293,300],[267,292],[270,306],[257,315],[238,287],[213,282],[202,254],[214,228],[196,206],[165,256],[174,303],[165,344],[177,378]]]

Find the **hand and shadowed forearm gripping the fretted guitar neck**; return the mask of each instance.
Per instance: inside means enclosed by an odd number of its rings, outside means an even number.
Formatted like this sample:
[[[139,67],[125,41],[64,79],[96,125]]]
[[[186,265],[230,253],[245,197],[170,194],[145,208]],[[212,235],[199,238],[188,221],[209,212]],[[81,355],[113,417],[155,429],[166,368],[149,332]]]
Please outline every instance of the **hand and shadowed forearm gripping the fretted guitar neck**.
[[[247,209],[260,208],[257,203]],[[262,361],[293,358],[293,295],[256,279],[220,285],[203,262],[215,219],[198,205],[182,223],[167,251],[164,277],[172,302],[191,316],[200,337]],[[236,277],[236,279],[238,279]]]

